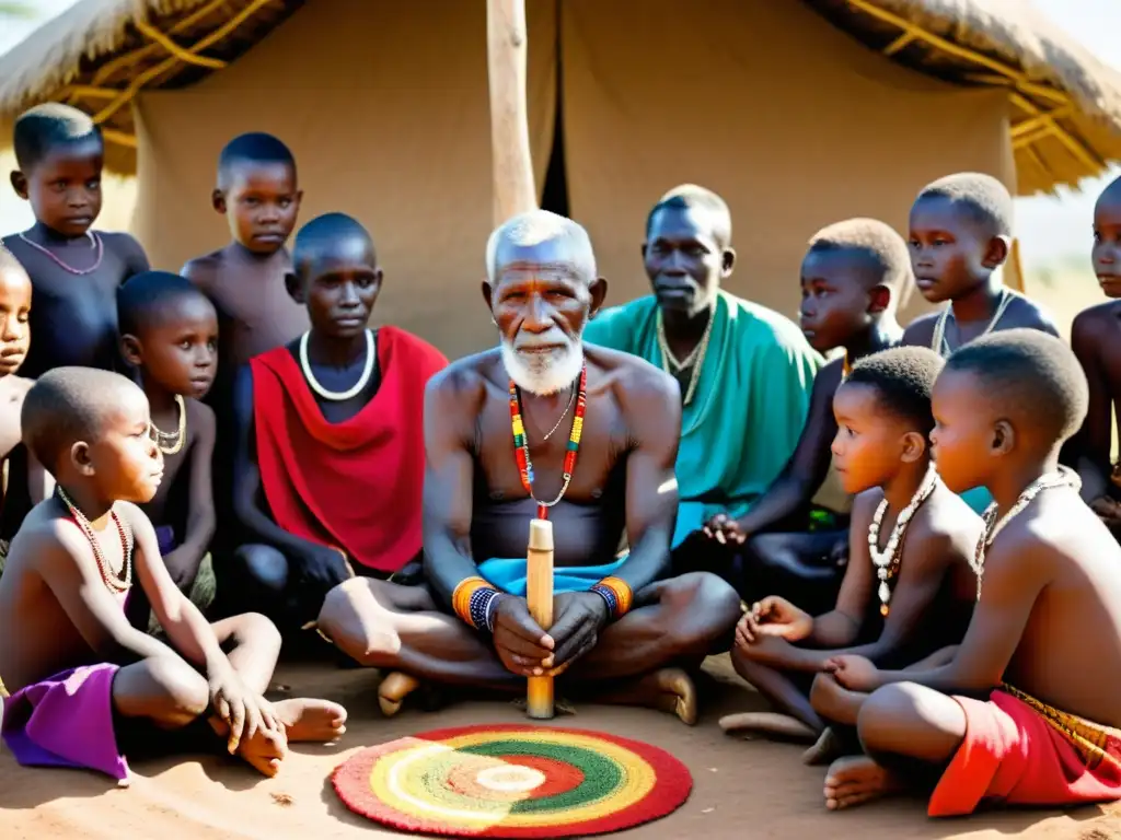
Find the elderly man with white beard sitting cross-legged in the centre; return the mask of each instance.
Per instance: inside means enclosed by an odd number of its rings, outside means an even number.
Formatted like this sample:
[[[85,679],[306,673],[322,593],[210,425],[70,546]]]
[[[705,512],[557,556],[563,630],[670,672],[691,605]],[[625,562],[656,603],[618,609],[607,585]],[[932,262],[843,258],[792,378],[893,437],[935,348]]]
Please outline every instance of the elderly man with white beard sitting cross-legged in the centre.
[[[499,347],[453,363],[425,396],[425,581],[348,581],[318,628],[391,672],[379,689],[387,715],[421,683],[519,691],[554,675],[566,698],[693,724],[689,672],[732,632],[740,600],[713,575],[667,577],[677,385],[636,356],[583,345],[606,281],[578,224],[544,211],[511,218],[491,234],[487,272]],[[549,628],[525,597],[534,517],[554,526]]]

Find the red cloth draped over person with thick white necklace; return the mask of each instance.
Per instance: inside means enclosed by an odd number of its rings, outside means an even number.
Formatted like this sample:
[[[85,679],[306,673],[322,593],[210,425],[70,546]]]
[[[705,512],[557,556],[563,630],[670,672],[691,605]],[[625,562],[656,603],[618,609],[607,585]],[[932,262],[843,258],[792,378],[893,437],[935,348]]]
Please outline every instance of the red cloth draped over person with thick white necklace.
[[[330,423],[287,347],[250,362],[257,463],[275,522],[393,572],[420,551],[424,389],[447,366],[427,342],[378,330],[381,384],[358,414]]]

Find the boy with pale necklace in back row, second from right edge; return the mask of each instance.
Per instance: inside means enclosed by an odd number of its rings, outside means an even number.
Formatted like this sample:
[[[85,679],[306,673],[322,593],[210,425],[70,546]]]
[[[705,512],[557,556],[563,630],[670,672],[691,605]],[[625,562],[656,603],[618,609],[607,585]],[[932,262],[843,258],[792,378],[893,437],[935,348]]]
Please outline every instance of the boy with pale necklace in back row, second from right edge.
[[[1012,215],[1011,194],[991,175],[949,175],[918,194],[910,213],[915,283],[928,301],[946,306],[911,321],[904,344],[945,357],[999,329],[1058,335],[1050,316],[1004,286],[998,271],[1011,249]],[[978,513],[992,501],[982,487],[965,489],[966,504]]]

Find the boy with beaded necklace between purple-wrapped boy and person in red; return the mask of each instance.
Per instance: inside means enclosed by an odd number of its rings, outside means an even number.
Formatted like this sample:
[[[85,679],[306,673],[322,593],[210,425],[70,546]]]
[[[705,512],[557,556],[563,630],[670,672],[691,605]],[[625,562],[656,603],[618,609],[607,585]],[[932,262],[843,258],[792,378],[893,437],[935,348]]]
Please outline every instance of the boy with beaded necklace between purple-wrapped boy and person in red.
[[[207,553],[214,536],[214,412],[200,400],[217,370],[217,315],[189,280],[166,271],[133,277],[118,292],[117,307],[121,353],[139,371],[164,456],[164,479],[141,510],[156,528],[172,580],[206,610],[214,599]],[[156,629],[143,598],[135,601],[130,614]]]

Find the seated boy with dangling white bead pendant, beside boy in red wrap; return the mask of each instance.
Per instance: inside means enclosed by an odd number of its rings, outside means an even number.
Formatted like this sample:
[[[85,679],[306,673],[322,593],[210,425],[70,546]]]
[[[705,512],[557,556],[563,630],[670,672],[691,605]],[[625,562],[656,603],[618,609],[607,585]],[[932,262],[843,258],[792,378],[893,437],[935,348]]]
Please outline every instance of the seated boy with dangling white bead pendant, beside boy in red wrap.
[[[825,725],[809,692],[831,657],[851,652],[905,665],[964,633],[961,584],[981,521],[930,463],[930,390],[941,368],[932,351],[898,347],[858,362],[837,389],[833,456],[845,491],[861,495],[836,607],[813,617],[769,597],[743,616],[732,664],[782,713],[730,716],[724,729],[817,737]]]

